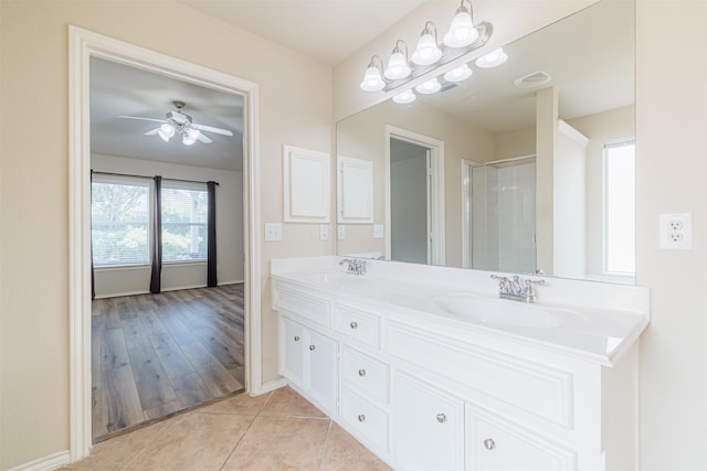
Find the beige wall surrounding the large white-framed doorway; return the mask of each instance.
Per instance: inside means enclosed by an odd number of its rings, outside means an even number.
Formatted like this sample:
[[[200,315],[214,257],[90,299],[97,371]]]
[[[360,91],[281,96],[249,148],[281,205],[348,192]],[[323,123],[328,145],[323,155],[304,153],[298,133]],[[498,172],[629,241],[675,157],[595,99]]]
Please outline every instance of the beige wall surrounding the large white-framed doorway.
[[[283,218],[283,144],[329,152],[333,105],[329,66],[178,2],[3,0],[0,20],[0,469],[8,469],[68,449],[68,24],[260,84],[263,222]],[[177,32],[187,40],[176,41]],[[286,225],[284,236],[262,250],[264,381],[277,377],[270,259],[334,251],[318,225]]]

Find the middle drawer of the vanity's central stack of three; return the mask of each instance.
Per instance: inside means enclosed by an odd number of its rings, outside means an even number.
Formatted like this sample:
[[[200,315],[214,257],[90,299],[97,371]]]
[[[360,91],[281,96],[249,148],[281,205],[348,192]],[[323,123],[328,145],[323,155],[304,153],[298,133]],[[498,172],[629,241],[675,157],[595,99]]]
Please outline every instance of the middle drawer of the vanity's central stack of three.
[[[388,403],[388,366],[360,352],[344,347],[341,377],[348,385]]]

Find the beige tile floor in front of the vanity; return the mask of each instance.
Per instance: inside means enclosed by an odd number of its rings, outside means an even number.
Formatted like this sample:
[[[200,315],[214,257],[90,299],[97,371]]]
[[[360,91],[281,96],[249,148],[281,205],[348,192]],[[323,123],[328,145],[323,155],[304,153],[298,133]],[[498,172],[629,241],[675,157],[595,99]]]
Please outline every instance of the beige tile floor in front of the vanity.
[[[233,396],[96,443],[62,470],[390,470],[289,387]]]

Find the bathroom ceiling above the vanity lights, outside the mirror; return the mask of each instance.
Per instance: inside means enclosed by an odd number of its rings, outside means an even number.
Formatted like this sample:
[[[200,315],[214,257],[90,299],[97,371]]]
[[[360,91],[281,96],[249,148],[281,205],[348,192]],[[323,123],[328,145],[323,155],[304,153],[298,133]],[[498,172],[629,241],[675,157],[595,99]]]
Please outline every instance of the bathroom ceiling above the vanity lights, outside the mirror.
[[[336,65],[425,0],[178,1],[329,65]]]

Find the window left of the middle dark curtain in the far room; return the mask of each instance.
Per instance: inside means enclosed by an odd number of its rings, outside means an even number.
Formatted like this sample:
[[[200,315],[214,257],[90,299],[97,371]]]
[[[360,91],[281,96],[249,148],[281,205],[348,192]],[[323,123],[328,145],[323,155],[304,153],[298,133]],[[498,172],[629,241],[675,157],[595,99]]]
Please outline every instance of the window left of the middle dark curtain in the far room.
[[[94,266],[149,264],[149,190],[143,182],[92,183]]]

